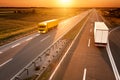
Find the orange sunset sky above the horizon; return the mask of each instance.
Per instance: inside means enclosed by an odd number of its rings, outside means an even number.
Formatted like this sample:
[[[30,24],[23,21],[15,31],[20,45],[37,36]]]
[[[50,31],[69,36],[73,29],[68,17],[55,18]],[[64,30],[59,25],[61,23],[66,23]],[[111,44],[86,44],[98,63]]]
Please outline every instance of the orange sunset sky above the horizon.
[[[0,0],[1,7],[120,7],[120,0]]]

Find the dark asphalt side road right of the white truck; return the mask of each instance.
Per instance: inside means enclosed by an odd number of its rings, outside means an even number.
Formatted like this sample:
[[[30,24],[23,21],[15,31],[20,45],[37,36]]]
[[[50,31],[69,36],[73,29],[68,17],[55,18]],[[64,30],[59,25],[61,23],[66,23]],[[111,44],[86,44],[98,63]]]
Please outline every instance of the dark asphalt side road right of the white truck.
[[[110,31],[109,35],[109,45],[116,63],[118,72],[120,73],[120,27],[114,28]],[[120,80],[120,76],[119,76]]]

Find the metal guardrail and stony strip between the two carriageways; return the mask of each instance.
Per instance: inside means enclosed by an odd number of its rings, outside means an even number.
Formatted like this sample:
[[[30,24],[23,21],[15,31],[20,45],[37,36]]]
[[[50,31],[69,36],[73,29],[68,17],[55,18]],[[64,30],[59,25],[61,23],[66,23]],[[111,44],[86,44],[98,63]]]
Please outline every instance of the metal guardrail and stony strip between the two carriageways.
[[[46,70],[49,64],[59,57],[60,52],[64,49],[67,40],[58,40],[39,56],[37,56],[32,62],[24,67],[10,80],[24,80],[30,77],[34,77],[35,80]]]

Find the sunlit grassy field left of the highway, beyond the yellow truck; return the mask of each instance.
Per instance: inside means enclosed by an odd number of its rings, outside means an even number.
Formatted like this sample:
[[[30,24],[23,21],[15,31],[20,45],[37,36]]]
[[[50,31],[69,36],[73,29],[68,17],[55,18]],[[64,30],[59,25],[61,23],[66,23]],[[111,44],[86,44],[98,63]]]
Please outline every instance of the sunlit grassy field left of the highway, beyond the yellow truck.
[[[12,9],[3,10],[8,11]],[[35,13],[0,14],[0,46],[19,39],[22,36],[37,32],[37,24],[39,22],[56,18],[66,19],[82,11],[81,9],[35,8]]]

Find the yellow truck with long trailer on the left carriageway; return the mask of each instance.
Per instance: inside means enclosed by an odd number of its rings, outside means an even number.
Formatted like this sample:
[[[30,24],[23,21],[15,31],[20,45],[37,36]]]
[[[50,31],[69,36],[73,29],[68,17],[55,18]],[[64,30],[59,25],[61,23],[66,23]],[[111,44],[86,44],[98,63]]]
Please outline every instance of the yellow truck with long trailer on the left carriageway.
[[[50,29],[57,27],[59,21],[58,19],[44,21],[38,24],[38,32],[39,33],[46,33]]]

